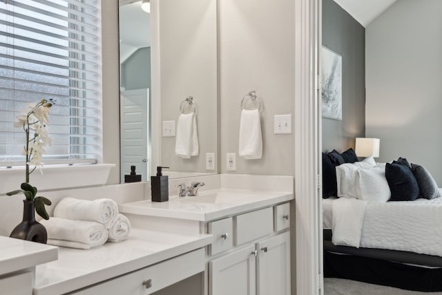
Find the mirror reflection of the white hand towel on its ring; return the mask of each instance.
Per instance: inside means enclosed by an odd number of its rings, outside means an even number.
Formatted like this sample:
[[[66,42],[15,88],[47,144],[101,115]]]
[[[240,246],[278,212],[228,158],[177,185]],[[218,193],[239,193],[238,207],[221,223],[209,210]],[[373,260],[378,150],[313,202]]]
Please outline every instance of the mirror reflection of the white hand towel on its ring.
[[[200,153],[195,113],[181,114],[178,118],[175,154],[183,159]]]

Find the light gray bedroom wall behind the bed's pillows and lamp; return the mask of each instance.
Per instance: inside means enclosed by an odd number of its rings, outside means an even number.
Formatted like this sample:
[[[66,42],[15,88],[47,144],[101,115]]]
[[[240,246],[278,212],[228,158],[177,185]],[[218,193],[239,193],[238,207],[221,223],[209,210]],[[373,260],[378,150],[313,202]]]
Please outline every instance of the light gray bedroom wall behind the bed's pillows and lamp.
[[[442,1],[401,0],[367,26],[367,137],[379,162],[399,156],[442,186]]]

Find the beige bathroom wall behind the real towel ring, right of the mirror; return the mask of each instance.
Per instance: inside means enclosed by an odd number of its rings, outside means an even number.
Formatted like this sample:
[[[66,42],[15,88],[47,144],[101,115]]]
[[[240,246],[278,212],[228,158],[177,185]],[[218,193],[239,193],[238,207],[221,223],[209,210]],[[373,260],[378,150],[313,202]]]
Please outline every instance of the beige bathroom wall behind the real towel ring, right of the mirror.
[[[219,6],[221,172],[294,175],[294,134],[273,134],[273,115],[294,112],[294,1],[223,0]],[[252,90],[263,104],[260,160],[238,156],[240,102]],[[236,153],[236,172],[227,171],[226,153]]]

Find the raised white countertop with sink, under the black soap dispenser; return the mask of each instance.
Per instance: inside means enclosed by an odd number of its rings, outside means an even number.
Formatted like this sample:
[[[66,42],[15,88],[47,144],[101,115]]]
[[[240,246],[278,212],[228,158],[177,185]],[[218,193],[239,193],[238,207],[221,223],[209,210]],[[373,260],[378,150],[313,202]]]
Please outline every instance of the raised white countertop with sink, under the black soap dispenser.
[[[143,200],[119,205],[122,213],[160,216],[186,220],[210,221],[224,216],[271,206],[292,200],[291,192],[216,189],[198,196],[178,198],[169,196],[167,202]]]

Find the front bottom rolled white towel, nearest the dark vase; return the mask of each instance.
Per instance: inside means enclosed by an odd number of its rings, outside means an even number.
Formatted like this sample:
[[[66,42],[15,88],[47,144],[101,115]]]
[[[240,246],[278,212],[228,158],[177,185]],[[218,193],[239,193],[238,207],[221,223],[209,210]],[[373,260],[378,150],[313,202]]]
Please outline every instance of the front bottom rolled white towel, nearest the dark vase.
[[[40,223],[48,231],[50,245],[89,249],[103,245],[108,239],[106,227],[95,221],[51,217]]]

